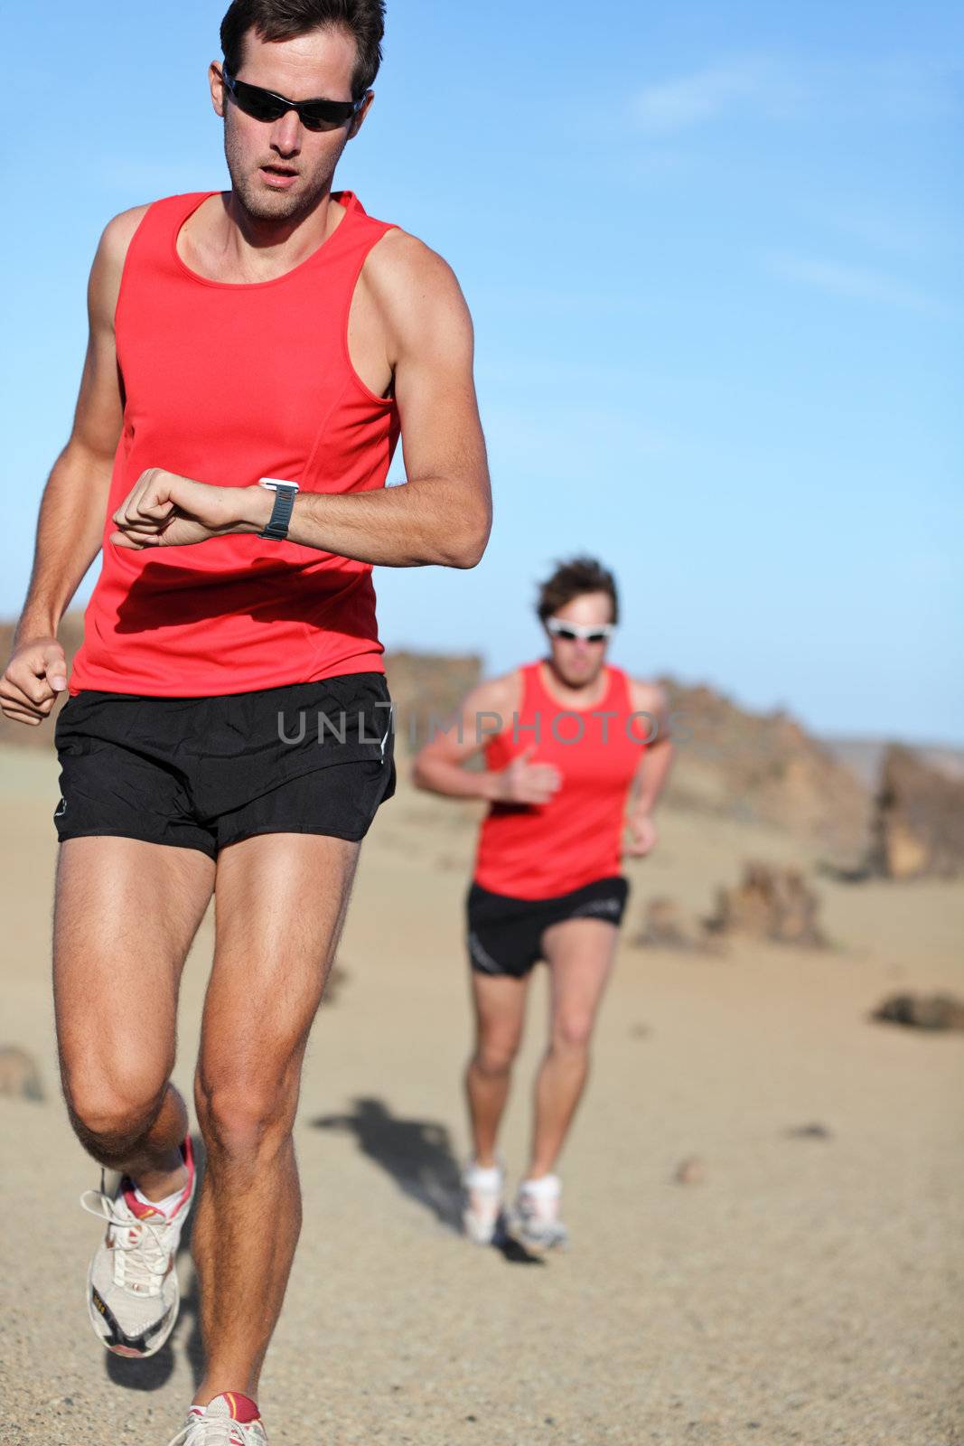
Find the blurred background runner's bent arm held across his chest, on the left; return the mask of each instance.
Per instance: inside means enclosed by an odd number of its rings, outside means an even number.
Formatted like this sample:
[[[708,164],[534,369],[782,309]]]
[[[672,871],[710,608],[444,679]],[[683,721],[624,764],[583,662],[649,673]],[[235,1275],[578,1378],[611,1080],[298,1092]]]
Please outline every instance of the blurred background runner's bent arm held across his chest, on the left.
[[[535,745],[522,749],[507,768],[475,772],[465,763],[490,737],[513,727],[522,706],[522,675],[516,669],[481,683],[461,704],[448,730],[438,730],[412,765],[412,781],[426,792],[487,803],[542,804],[559,788],[558,769],[529,762]]]

